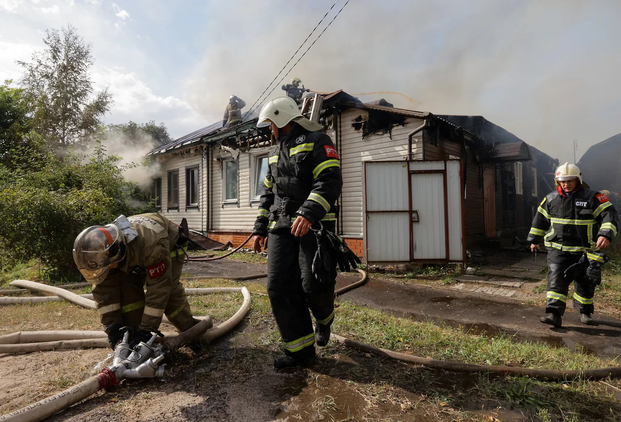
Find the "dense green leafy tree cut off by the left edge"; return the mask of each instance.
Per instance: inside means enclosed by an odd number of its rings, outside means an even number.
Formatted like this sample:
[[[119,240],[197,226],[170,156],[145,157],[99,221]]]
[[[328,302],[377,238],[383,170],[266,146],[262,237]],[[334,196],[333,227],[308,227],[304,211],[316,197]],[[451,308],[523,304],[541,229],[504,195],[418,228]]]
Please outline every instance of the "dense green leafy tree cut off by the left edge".
[[[30,109],[24,97],[24,89],[11,88],[11,80],[0,85],[0,163],[9,166],[14,151],[28,145],[27,136],[32,127]]]

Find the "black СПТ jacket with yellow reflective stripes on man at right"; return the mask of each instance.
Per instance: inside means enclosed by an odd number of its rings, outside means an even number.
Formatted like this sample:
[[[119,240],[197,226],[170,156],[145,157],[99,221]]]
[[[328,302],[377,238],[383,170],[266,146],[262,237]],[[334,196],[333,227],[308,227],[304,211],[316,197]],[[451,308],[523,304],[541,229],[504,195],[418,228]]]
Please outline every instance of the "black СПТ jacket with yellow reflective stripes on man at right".
[[[543,198],[527,239],[538,244],[543,238],[547,248],[562,252],[596,250],[599,236],[609,241],[617,236],[618,221],[607,196],[584,186],[568,196],[559,186]]]

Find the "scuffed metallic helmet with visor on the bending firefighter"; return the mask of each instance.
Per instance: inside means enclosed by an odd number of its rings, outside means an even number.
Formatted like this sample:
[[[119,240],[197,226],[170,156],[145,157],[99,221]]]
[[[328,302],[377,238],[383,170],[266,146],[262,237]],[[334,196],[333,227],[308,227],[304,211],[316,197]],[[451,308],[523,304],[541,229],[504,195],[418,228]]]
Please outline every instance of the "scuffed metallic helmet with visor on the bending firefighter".
[[[73,260],[86,281],[99,284],[110,265],[125,257],[125,238],[114,224],[84,229],[73,244]]]

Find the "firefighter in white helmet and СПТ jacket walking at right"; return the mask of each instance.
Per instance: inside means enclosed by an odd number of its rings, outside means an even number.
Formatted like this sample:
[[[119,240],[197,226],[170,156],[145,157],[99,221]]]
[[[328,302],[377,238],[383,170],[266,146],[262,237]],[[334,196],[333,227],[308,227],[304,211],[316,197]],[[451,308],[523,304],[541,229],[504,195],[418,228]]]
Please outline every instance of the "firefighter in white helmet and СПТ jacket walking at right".
[[[617,236],[617,211],[607,196],[582,186],[577,166],[564,163],[556,169],[555,180],[557,189],[543,199],[528,234],[532,251],[540,250],[542,238],[548,249],[548,294],[541,321],[561,326],[569,285],[574,282],[573,306],[583,324],[594,325],[591,314],[595,288],[601,283],[600,265],[609,260],[600,250]]]

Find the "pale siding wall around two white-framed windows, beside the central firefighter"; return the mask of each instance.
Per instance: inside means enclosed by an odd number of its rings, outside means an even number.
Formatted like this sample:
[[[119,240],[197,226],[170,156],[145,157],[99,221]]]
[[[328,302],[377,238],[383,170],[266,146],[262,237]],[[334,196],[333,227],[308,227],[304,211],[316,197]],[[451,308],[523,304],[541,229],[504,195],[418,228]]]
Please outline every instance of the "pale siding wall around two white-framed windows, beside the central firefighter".
[[[266,155],[270,148],[252,150],[252,154],[240,152],[237,157],[239,168],[239,188],[237,203],[222,204],[224,198],[222,186],[222,165],[217,160],[231,158],[231,155],[219,148],[212,148],[211,157],[211,226],[209,230],[252,231],[256,219],[258,201],[251,201],[255,180],[256,157]]]

